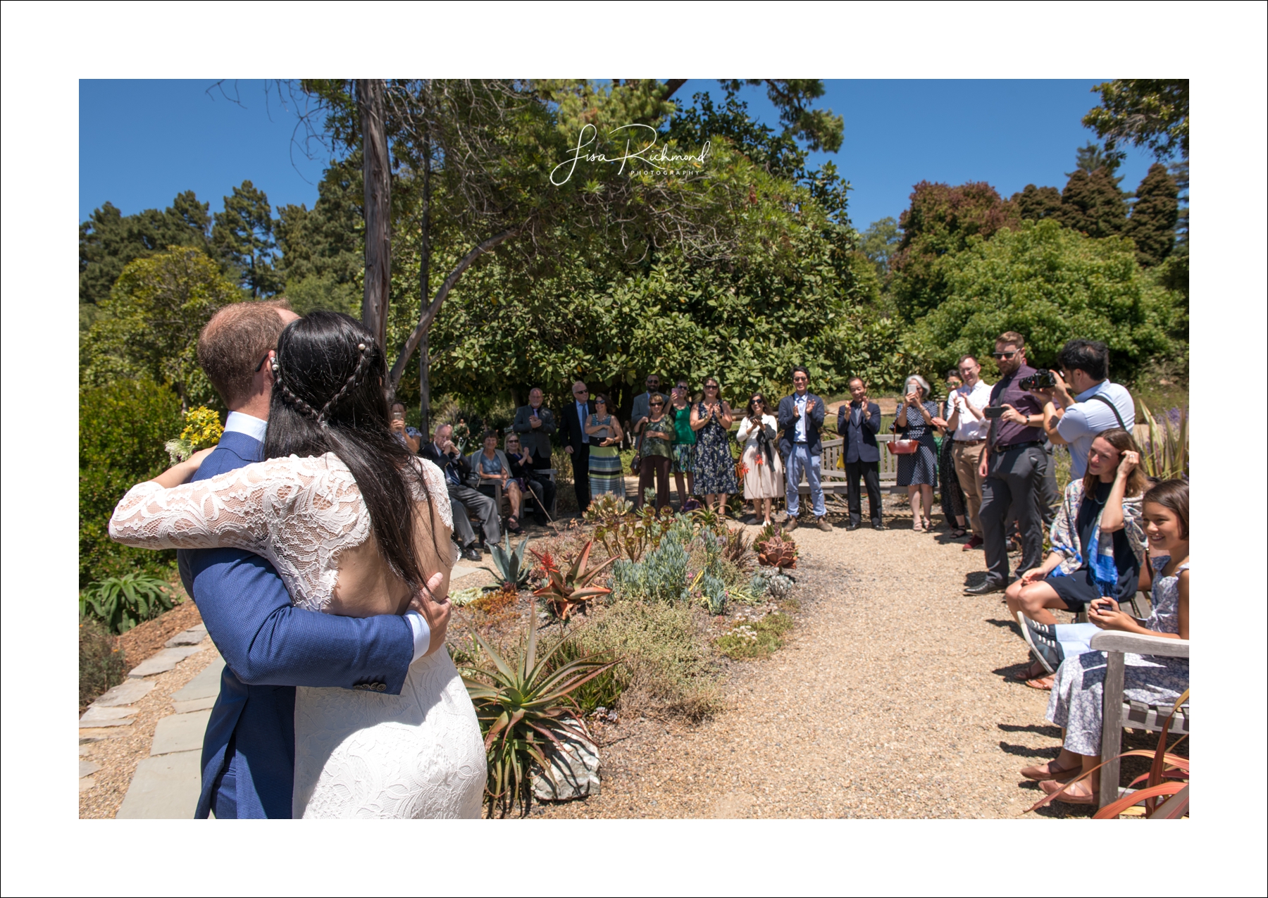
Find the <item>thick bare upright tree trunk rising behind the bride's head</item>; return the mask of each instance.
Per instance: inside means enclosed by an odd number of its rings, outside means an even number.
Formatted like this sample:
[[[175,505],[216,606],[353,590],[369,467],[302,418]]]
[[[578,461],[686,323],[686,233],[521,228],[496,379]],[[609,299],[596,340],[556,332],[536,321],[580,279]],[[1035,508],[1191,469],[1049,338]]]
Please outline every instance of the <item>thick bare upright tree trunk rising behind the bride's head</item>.
[[[383,123],[382,80],[356,81],[356,108],[361,117],[365,181],[365,293],[361,298],[361,321],[374,334],[379,346],[384,346],[388,293],[392,287],[392,164]]]

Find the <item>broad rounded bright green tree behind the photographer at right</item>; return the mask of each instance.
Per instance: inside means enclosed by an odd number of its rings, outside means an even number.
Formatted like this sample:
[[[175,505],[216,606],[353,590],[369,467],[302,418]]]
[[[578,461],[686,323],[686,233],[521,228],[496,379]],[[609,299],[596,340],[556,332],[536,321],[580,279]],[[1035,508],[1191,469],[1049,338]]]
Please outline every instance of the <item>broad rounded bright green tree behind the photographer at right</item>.
[[[1103,340],[1112,375],[1131,381],[1153,359],[1183,354],[1168,332],[1182,313],[1175,294],[1136,264],[1131,241],[1093,240],[1055,221],[1025,222],[989,241],[974,237],[943,261],[947,297],[909,335],[913,354],[946,369],[966,353],[989,353],[1017,331],[1027,356],[1051,365],[1066,340]]]

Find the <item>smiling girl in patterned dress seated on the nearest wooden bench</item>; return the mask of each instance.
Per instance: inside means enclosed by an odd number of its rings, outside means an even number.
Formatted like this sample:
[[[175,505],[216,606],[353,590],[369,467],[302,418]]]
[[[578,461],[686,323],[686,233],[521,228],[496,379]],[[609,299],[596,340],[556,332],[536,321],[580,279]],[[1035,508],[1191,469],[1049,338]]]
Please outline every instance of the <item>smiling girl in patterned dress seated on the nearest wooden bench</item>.
[[[1088,618],[1103,630],[1188,639],[1188,483],[1163,481],[1145,493],[1144,506],[1149,544],[1160,553],[1151,559],[1153,610],[1149,618],[1139,620],[1121,611],[1113,599],[1103,597],[1093,601]],[[1056,685],[1047,701],[1047,719],[1065,729],[1061,753],[1055,761],[1022,770],[1022,776],[1040,780],[1040,788],[1049,795],[1101,762],[1104,675],[1106,654],[1093,651],[1066,657],[1056,671]],[[1123,654],[1123,694],[1127,699],[1165,705],[1174,703],[1187,689],[1188,658]],[[1099,771],[1092,772],[1058,800],[1094,804],[1098,779]]]

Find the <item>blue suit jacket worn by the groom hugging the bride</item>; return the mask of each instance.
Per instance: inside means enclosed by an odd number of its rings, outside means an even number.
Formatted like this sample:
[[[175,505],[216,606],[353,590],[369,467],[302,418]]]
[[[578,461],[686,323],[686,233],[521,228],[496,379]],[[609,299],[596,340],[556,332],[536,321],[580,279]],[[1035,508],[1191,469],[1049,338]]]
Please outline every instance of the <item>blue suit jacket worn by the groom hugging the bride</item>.
[[[262,443],[228,433],[194,479],[262,458]],[[185,589],[224,657],[221,694],[203,737],[203,790],[194,816],[208,816],[217,778],[232,764],[240,818],[289,818],[295,686],[380,682],[383,691],[399,695],[413,660],[413,630],[394,614],[344,618],[294,608],[273,564],[250,552],[178,556]]]

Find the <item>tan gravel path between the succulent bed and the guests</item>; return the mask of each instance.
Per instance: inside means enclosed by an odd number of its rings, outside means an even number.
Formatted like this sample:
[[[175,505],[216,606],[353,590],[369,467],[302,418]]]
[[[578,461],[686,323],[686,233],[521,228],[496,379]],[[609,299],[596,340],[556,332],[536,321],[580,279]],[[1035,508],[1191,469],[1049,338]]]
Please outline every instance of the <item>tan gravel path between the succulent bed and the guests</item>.
[[[728,709],[699,727],[640,719],[598,734],[602,794],[540,814],[1019,816],[1040,793],[1017,771],[1060,741],[1047,693],[1012,680],[1027,657],[1003,595],[961,594],[983,553],[912,533],[903,511],[880,533],[796,530],[789,644],[737,665]]]

